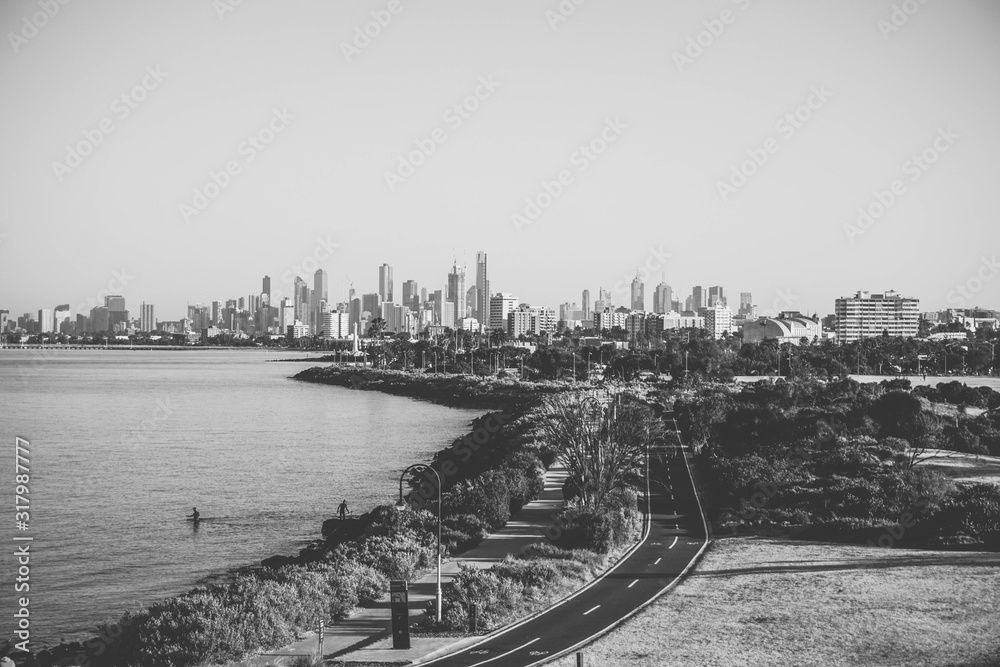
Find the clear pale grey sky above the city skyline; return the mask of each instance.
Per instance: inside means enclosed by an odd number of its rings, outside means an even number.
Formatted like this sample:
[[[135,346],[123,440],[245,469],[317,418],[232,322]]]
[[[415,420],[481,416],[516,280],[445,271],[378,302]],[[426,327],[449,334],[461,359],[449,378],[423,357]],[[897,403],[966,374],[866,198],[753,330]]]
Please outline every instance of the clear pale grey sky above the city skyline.
[[[317,267],[340,300],[383,262],[433,291],[479,250],[550,307],[637,271],[649,308],[1000,307],[995,0],[5,0],[0,30],[15,316]]]

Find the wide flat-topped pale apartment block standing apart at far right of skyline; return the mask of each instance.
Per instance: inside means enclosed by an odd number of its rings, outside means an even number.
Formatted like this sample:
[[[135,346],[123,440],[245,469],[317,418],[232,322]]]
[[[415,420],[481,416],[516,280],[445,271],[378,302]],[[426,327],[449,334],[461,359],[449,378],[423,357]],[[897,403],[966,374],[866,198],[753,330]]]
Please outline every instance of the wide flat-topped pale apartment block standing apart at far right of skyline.
[[[836,300],[837,342],[881,336],[913,337],[920,327],[920,301],[893,291],[858,292]]]

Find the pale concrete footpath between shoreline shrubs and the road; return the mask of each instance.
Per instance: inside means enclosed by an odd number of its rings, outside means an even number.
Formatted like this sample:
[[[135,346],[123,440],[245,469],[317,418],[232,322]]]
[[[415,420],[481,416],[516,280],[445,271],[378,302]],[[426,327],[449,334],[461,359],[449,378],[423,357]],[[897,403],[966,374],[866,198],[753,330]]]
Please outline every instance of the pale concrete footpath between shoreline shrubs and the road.
[[[552,525],[552,515],[563,506],[562,485],[567,472],[559,464],[545,473],[545,490],[538,500],[525,505],[518,515],[501,530],[491,534],[473,549],[452,557],[441,565],[441,586],[448,586],[462,563],[473,567],[489,568],[510,554],[517,554],[522,547],[544,539],[545,529]],[[434,600],[437,582],[436,570],[410,582],[411,622],[423,616],[428,600]],[[344,621],[328,625],[323,640],[323,654],[337,662],[396,662],[407,664],[428,656],[446,653],[447,647],[476,641],[477,638],[413,637],[410,649],[393,649],[390,636],[388,593],[373,607],[366,607]],[[263,667],[287,664],[295,656],[314,655],[319,648],[315,633],[281,649],[261,654],[250,660],[235,663],[233,667]]]

